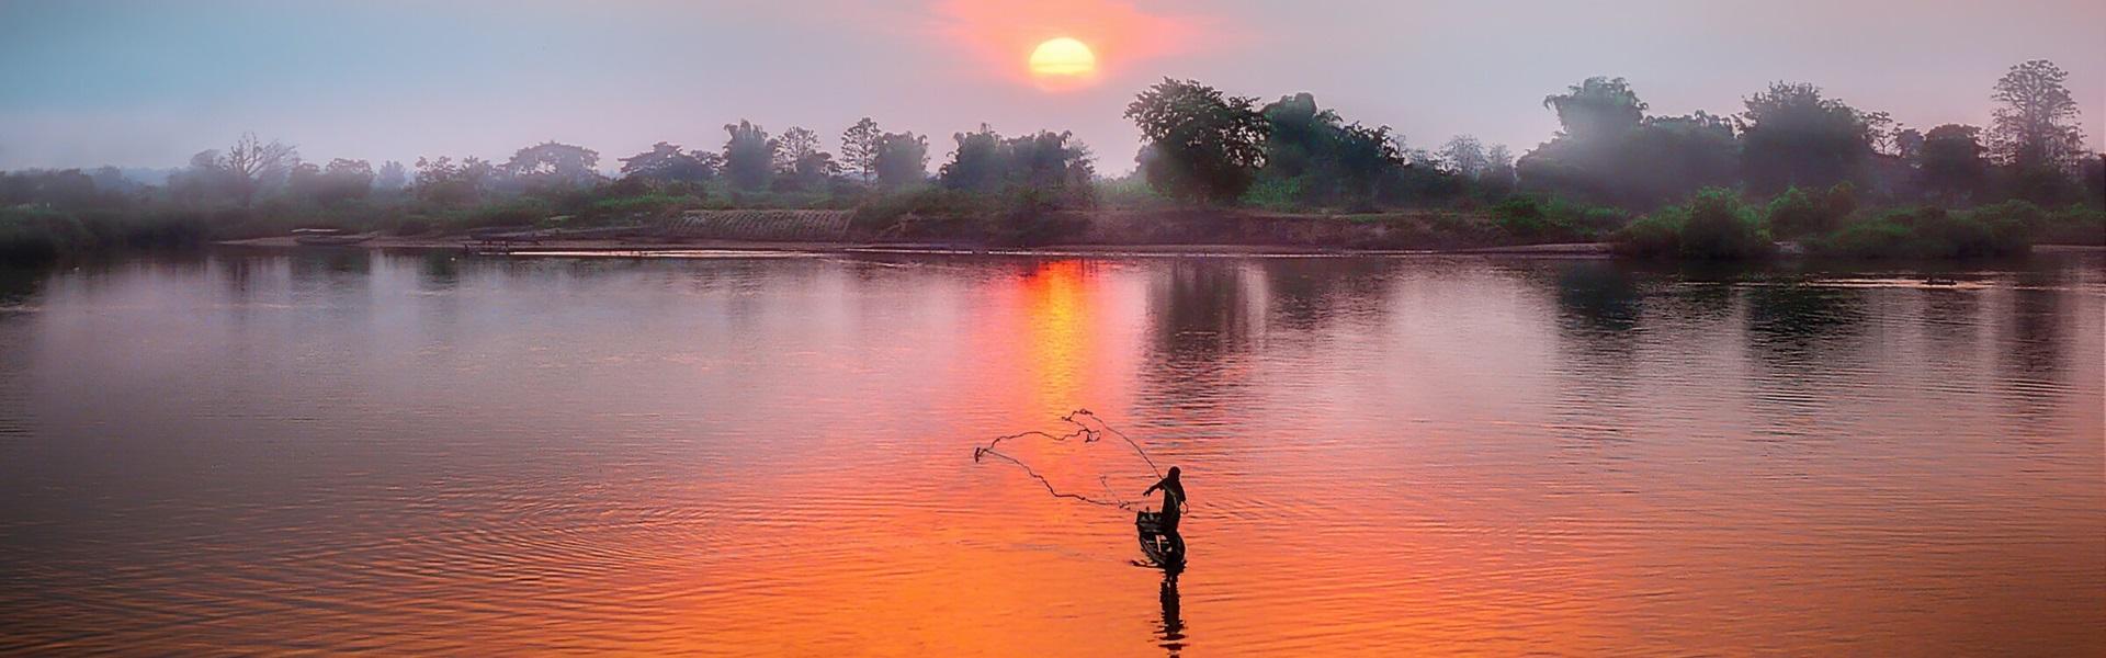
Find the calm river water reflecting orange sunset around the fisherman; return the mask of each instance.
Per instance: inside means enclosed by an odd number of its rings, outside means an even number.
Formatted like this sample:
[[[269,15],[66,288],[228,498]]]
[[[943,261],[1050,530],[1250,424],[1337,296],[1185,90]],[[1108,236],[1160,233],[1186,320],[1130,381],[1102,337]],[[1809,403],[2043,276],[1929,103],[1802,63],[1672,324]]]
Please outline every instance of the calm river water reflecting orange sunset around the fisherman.
[[[2106,259],[0,274],[0,652],[2102,654]],[[1192,567],[975,464],[1087,407]],[[1120,445],[1024,443],[1137,498]]]

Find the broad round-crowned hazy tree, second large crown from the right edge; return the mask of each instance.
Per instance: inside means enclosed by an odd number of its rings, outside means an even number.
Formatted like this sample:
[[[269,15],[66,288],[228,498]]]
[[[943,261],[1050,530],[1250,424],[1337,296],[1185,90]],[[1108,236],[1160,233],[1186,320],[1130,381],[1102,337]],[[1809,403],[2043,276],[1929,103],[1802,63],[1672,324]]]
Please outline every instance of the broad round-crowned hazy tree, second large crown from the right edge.
[[[1879,129],[1889,122],[1885,114],[1822,97],[1820,86],[1805,82],[1775,82],[1746,105],[1737,118],[1742,171],[1759,192],[1857,179]]]

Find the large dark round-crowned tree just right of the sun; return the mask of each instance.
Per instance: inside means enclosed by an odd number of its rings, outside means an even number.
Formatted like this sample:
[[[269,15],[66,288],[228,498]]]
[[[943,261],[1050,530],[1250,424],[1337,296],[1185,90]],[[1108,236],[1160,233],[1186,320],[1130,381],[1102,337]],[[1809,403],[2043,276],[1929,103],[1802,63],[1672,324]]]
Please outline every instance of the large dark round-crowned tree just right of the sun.
[[[1165,196],[1234,202],[1266,164],[1270,124],[1257,99],[1228,97],[1196,80],[1171,80],[1141,91],[1125,116],[1154,148],[1144,175]]]

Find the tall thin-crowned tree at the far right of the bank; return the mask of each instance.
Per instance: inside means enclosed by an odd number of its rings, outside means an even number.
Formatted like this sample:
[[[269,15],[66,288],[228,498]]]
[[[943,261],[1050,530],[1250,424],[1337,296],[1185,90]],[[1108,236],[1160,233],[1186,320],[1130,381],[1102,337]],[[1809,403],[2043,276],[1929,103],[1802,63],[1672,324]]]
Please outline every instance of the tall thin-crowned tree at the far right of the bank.
[[[2047,59],[2013,65],[1996,80],[1990,95],[1996,122],[1990,127],[1990,148],[1996,160],[2015,169],[2055,169],[2077,164],[2085,152],[2077,99],[2064,86],[2070,74]]]

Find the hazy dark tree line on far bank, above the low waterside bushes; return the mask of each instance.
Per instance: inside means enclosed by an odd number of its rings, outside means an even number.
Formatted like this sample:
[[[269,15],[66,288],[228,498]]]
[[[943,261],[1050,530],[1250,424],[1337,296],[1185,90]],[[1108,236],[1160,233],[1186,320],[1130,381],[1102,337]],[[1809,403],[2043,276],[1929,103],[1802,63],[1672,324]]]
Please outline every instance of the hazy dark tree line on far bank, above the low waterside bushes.
[[[0,173],[0,209],[15,217],[0,232],[36,232],[21,217],[51,224],[53,213],[124,215],[133,224],[179,217],[211,224],[192,232],[244,234],[314,221],[398,230],[550,215],[596,221],[695,207],[876,205],[887,217],[901,209],[1024,217],[1030,213],[1017,209],[1188,205],[1476,209],[1512,219],[1516,234],[1544,234],[1529,226],[1609,232],[1700,190],[1830,198],[1847,188],[1853,207],[2102,205],[2106,167],[2085,148],[2066,78],[2049,61],[2013,65],[1988,89],[1996,101],[1988,124],[1919,129],[1805,82],[1769,84],[1731,116],[1660,116],[1632,82],[1598,76],[1544,97],[1558,131],[1521,156],[1470,135],[1413,148],[1386,124],[1320,108],[1310,93],[1259,103],[1165,78],[1125,108],[1144,137],[1125,179],[1101,179],[1095,154],[1072,133],[1000,135],[988,124],[954,133],[948,160],[931,171],[929,137],[891,133],[872,118],[838,137],[739,120],[722,127],[716,148],[659,141],[617,158],[613,175],[602,173],[598,152],[558,141],[505,160],[423,156],[375,167],[310,162],[293,146],[240,135],[223,150],[198,152],[160,186],[114,167]]]

